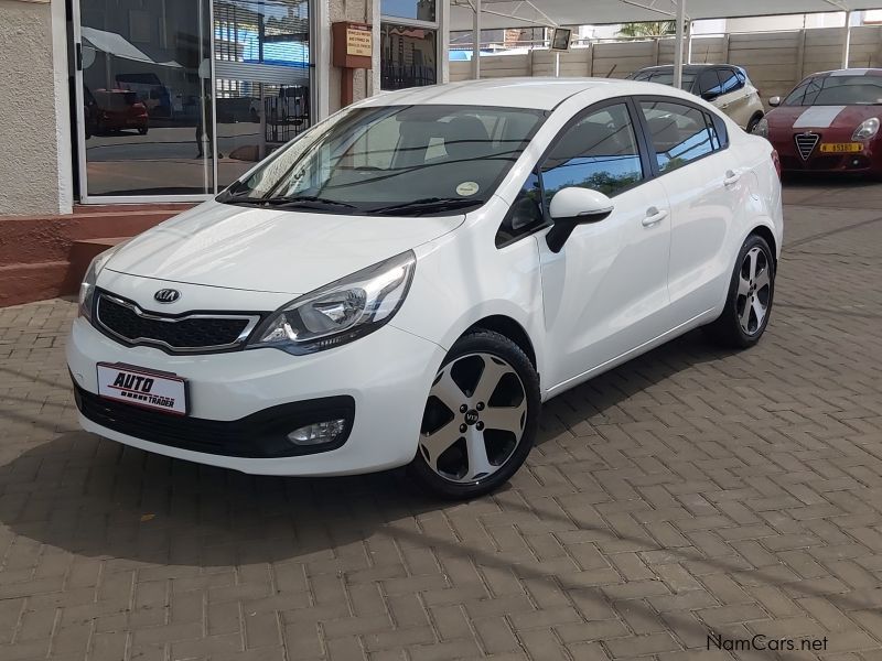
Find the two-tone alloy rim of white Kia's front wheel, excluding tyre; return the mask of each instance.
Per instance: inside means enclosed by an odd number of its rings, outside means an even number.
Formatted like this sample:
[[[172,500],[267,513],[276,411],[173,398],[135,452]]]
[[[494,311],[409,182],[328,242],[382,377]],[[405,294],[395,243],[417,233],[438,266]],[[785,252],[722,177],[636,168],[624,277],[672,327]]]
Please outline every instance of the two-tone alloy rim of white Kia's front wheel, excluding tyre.
[[[420,453],[455,484],[499,470],[524,436],[527,395],[515,369],[498,356],[467,354],[435,376],[420,430]]]

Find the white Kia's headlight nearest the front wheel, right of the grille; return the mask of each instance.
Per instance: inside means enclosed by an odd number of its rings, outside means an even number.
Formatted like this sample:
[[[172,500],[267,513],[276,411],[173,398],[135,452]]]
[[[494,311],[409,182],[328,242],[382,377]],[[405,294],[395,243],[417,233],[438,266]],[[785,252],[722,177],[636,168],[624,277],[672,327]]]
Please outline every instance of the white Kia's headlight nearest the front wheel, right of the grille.
[[[416,264],[404,252],[294,299],[260,324],[248,348],[313,354],[373,333],[401,307]]]

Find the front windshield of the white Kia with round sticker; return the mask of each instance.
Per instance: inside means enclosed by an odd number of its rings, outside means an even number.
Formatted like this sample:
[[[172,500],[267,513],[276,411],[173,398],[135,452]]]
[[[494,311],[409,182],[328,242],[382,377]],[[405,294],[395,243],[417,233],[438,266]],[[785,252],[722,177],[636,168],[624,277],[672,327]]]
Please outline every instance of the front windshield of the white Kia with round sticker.
[[[476,106],[354,108],[291,142],[218,201],[347,214],[467,210],[487,201],[545,115]]]

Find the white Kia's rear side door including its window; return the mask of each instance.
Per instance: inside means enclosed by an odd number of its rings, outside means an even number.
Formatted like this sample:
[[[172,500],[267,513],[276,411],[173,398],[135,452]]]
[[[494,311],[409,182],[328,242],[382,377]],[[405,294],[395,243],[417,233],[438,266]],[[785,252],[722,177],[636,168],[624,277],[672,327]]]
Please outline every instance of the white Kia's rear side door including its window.
[[[724,253],[746,173],[727,149],[722,119],[670,97],[637,99],[650,164],[670,204],[668,292],[674,326],[719,305]]]

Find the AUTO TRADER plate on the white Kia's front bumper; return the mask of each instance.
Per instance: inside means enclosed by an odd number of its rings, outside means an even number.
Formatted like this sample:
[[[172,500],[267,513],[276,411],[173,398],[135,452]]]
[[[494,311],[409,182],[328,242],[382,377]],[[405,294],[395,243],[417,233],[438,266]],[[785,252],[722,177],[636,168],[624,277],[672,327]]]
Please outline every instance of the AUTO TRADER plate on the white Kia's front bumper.
[[[186,380],[168,372],[99,362],[98,394],[153,411],[186,415]]]

